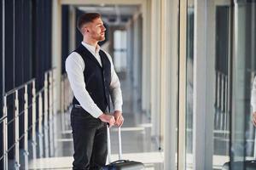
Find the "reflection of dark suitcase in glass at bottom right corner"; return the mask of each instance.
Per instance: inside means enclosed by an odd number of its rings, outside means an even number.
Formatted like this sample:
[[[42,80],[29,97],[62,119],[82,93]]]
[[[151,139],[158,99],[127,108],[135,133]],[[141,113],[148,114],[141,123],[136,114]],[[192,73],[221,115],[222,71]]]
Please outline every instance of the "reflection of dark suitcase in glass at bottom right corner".
[[[256,161],[235,161],[233,163],[234,169],[244,168],[246,170],[256,170]],[[230,170],[230,161],[225,162],[222,170]]]

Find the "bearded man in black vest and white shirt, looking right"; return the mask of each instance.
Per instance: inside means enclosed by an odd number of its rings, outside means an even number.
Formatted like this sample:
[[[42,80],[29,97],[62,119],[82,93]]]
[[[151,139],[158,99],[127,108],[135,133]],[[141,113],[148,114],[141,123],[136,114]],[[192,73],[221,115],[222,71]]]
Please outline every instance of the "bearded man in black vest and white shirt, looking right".
[[[67,77],[73,90],[73,169],[100,169],[108,155],[107,123],[122,126],[122,94],[110,55],[97,44],[105,40],[100,14],[82,14],[78,29],[83,42],[66,60]],[[108,115],[109,95],[113,116]]]

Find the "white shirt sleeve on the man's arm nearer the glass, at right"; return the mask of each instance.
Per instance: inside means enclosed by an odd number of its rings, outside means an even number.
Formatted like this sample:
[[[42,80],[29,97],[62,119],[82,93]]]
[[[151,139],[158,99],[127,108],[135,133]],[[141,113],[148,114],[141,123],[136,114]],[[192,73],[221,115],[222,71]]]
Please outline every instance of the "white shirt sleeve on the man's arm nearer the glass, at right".
[[[106,52],[105,52],[106,53]],[[123,98],[122,98],[122,91],[121,86],[119,82],[119,77],[117,76],[116,72],[114,71],[113,67],[113,60],[110,56],[110,54],[106,53],[108,56],[108,59],[111,64],[111,82],[110,82],[110,96],[113,102],[113,110],[114,111],[122,111],[122,105],[123,105]]]

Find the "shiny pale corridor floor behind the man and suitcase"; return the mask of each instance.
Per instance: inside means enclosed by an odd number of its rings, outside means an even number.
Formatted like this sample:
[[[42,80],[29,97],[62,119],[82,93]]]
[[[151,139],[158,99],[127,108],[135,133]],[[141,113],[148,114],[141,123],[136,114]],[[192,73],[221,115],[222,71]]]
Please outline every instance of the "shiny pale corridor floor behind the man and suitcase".
[[[131,81],[121,80],[124,99],[123,114],[125,123],[122,127],[123,159],[142,161],[148,170],[163,169],[163,153],[158,150],[151,139],[151,124],[140,111],[136,89],[131,88]],[[66,127],[61,129],[61,116],[58,115],[58,137],[55,156],[30,161],[30,169],[71,169],[73,161],[73,139],[69,126],[69,112],[65,113]],[[118,159],[117,128],[111,128],[112,161]]]

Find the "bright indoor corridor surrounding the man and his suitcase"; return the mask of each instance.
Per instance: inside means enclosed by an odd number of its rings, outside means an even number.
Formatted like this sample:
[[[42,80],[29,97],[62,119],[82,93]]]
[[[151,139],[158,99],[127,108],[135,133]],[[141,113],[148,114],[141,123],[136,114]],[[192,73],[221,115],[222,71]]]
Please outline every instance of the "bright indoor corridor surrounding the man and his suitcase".
[[[102,14],[123,94],[123,158],[145,169],[248,169],[252,0],[2,0],[0,166],[71,169],[73,93],[65,60],[80,14]],[[111,128],[113,161],[118,132]],[[241,161],[236,164],[236,161]]]

